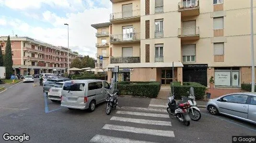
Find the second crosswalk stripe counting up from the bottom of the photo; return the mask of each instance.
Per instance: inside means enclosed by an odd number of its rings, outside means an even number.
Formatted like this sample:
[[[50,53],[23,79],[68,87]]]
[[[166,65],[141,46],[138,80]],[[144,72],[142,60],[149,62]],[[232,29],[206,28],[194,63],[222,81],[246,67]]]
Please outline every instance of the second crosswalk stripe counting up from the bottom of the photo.
[[[142,133],[142,134],[158,135],[158,136],[165,136],[165,137],[175,137],[173,131],[135,128],[135,127],[129,127],[129,126],[113,125],[113,124],[105,124],[102,129],[123,131],[123,132],[130,132],[130,133]]]

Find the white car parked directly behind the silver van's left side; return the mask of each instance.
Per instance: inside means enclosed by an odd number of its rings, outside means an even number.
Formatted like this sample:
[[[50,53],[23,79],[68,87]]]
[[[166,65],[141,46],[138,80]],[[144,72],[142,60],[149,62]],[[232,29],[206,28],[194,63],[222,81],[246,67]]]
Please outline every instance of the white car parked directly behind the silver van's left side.
[[[48,99],[52,102],[61,101],[61,91],[64,82],[57,82],[48,92]]]

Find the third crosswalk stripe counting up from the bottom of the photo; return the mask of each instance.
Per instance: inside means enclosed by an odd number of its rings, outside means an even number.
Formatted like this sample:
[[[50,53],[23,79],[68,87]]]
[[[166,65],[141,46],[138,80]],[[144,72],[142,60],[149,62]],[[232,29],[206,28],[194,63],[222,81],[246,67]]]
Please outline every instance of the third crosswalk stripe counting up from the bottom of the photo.
[[[116,116],[113,116],[110,120],[121,121],[121,122],[131,122],[131,123],[153,124],[153,125],[160,125],[160,126],[172,126],[171,122],[167,122],[167,121],[145,120],[145,119],[116,117]]]

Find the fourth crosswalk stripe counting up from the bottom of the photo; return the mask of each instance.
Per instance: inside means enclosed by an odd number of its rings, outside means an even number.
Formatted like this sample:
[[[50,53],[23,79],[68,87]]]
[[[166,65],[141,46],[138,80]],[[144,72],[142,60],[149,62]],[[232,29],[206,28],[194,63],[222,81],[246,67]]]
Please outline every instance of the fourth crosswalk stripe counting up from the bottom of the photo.
[[[170,118],[168,114],[155,114],[147,112],[129,112],[129,111],[117,111],[117,114],[129,114],[137,116],[150,116],[150,117],[160,117],[160,118]]]

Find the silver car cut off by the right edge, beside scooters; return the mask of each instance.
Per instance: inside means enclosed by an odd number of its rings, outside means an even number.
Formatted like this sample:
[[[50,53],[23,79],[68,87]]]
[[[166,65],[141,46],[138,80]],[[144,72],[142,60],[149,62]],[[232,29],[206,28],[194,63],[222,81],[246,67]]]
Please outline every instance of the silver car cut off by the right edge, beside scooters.
[[[256,92],[238,92],[211,99],[207,110],[256,124]]]

